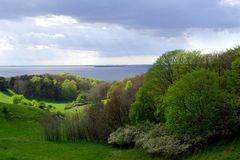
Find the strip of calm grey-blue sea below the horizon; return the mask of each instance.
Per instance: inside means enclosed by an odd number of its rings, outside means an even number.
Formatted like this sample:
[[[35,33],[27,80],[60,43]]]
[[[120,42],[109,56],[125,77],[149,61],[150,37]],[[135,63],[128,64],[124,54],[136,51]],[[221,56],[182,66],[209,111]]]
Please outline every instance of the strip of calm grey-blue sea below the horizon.
[[[0,76],[72,73],[99,80],[120,80],[145,73],[150,65],[132,66],[1,66]]]

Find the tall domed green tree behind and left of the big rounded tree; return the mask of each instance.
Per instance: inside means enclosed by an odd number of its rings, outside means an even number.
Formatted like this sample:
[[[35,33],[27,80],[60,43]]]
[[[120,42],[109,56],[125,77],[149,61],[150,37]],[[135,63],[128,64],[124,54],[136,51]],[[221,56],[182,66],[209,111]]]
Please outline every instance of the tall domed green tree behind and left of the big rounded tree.
[[[197,68],[199,59],[199,52],[175,50],[163,54],[146,73],[143,86],[137,92],[130,111],[132,122],[157,121],[155,111],[161,97],[175,80]]]

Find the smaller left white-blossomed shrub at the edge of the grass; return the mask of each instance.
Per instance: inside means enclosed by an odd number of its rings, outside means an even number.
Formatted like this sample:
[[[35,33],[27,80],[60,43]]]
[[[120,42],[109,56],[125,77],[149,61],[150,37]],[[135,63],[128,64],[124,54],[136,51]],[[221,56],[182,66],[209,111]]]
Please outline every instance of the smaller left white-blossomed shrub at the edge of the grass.
[[[118,128],[111,133],[108,138],[108,144],[113,146],[130,147],[134,146],[136,137],[140,134],[140,130],[134,126],[125,126]]]

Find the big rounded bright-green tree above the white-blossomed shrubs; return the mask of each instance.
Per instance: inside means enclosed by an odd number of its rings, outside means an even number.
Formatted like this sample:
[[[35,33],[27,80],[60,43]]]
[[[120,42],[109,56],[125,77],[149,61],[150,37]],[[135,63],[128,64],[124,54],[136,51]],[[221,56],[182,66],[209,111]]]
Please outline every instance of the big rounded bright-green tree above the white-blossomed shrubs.
[[[223,91],[214,72],[198,70],[174,83],[163,98],[166,126],[177,134],[212,129],[224,107]]]

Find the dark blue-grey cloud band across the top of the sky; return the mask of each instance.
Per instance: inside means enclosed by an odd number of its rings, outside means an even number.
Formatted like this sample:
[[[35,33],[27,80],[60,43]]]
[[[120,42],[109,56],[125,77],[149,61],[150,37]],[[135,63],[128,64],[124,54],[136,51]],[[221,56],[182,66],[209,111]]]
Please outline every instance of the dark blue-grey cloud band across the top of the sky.
[[[133,28],[228,28],[240,24],[240,10],[219,0],[1,0],[2,19],[69,15],[86,22]]]

